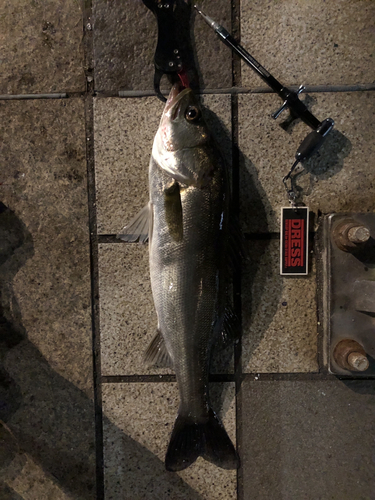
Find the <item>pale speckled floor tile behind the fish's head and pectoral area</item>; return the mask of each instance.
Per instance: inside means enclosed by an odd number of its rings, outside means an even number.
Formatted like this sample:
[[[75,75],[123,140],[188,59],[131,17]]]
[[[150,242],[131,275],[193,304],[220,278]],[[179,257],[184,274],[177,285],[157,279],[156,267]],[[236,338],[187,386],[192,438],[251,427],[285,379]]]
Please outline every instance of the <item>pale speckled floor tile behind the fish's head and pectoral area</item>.
[[[231,158],[230,96],[204,96],[205,117]],[[163,104],[156,97],[95,99],[95,172],[99,234],[117,234],[148,202],[148,164]]]

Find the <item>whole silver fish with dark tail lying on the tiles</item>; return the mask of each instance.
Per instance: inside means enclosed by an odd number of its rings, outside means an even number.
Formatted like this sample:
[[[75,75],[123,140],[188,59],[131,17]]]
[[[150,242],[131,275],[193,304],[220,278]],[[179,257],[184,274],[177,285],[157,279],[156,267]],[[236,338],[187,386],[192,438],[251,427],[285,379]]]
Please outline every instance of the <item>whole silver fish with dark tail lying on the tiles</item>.
[[[237,452],[209,400],[212,348],[233,316],[230,182],[199,101],[180,84],[171,89],[154,138],[149,191],[149,203],[118,238],[149,242],[158,326],[145,361],[173,368],[180,397],[165,467],[180,471],[202,456],[235,469]]]

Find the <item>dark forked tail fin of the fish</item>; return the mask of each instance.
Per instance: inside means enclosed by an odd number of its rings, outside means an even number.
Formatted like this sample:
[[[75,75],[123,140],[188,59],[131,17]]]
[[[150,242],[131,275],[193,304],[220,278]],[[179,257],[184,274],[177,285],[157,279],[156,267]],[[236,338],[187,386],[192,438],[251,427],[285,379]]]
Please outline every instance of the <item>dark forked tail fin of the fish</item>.
[[[178,415],[165,456],[167,470],[186,469],[199,456],[223,469],[237,469],[239,458],[234,446],[215,413],[209,411],[208,422],[197,424]]]

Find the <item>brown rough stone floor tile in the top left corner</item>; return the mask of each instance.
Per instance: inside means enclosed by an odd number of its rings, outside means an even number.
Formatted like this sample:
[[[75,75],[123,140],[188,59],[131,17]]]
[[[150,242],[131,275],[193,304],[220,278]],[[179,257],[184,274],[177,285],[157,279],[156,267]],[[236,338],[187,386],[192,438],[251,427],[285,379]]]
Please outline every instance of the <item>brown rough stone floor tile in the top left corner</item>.
[[[0,5],[0,94],[85,90],[82,7],[76,0]]]

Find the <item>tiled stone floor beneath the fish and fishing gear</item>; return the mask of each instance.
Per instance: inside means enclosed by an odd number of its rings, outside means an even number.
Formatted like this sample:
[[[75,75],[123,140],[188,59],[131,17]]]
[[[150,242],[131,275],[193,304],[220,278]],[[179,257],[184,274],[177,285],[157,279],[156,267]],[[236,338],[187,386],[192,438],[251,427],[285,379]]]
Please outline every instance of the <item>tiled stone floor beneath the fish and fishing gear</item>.
[[[26,5],[27,4],[27,5]],[[147,369],[148,249],[116,233],[148,199],[156,22],[140,0],[0,5],[0,500],[374,500],[375,381],[327,374],[322,215],[375,210],[375,3],[202,0],[336,126],[298,184],[308,277],[279,275],[282,177],[307,133],[192,15],[205,117],[233,168],[248,260],[239,342],[211,391],[241,458],[166,472],[173,371]],[[286,119],[287,116],[284,117]],[[284,124],[285,125],[285,124]]]

